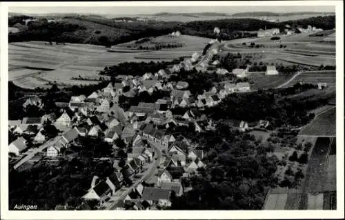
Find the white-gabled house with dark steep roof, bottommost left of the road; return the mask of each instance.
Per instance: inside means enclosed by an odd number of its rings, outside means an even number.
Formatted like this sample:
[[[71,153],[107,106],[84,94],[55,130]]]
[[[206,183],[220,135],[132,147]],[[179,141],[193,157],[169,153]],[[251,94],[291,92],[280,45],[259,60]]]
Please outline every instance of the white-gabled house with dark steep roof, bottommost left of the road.
[[[90,188],[88,193],[83,196],[83,199],[96,199],[99,201],[99,206],[102,206],[114,193],[115,186],[107,179],[106,181],[100,181],[95,187]]]

